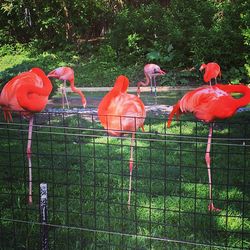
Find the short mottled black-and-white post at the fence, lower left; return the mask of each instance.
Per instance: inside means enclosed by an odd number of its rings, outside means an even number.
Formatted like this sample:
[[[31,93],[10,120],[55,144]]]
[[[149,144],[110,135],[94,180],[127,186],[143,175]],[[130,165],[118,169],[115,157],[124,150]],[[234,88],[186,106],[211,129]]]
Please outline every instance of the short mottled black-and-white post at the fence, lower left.
[[[49,249],[48,242],[48,189],[47,183],[40,183],[40,222],[42,250]]]

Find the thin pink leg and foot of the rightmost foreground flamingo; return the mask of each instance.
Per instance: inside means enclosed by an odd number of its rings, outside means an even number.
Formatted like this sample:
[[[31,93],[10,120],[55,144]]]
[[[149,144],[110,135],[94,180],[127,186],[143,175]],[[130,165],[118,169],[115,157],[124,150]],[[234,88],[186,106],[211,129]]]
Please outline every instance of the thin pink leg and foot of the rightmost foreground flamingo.
[[[219,208],[216,208],[213,203],[213,195],[212,195],[212,176],[211,176],[211,158],[210,158],[210,150],[211,150],[211,142],[212,142],[212,135],[213,135],[213,124],[210,125],[209,134],[208,134],[208,141],[207,141],[207,150],[205,154],[205,160],[207,164],[207,171],[208,171],[208,184],[209,184],[209,211],[220,211]]]

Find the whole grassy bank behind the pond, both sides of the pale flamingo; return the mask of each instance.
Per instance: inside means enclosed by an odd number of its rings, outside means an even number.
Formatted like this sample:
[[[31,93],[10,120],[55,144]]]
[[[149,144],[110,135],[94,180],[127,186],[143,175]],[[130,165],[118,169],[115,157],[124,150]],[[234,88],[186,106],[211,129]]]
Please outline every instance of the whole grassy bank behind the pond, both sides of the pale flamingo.
[[[125,65],[115,54],[106,50],[105,46],[83,53],[69,48],[65,48],[64,51],[39,51],[29,44],[6,45],[0,48],[0,88],[12,77],[32,67],[41,67],[48,73],[60,66],[74,69],[75,85],[79,87],[113,86],[115,79],[121,74],[129,78],[130,86],[137,86],[137,82],[145,80],[143,67],[146,63],[148,61],[139,60],[136,64]],[[157,79],[158,85],[175,86],[183,82],[183,85],[186,85],[194,84],[197,79],[201,80],[199,72],[190,73],[186,70],[173,73],[173,69],[166,70],[169,73]],[[53,79],[52,82],[55,91],[61,81]]]

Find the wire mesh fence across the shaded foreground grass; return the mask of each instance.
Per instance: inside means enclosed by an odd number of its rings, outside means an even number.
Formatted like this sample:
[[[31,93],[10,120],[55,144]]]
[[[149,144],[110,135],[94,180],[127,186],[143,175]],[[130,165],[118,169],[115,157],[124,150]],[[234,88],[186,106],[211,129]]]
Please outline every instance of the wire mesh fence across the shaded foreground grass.
[[[250,123],[214,124],[213,199],[208,211],[208,125],[148,117],[136,133],[128,208],[130,138],[107,136],[95,113],[40,113],[28,122],[0,113],[0,245],[42,248],[40,183],[48,187],[49,249],[249,249]]]

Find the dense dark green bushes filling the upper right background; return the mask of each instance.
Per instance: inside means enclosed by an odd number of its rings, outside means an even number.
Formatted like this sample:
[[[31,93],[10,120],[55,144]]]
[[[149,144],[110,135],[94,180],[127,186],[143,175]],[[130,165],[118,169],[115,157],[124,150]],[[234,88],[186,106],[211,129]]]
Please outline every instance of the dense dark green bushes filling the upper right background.
[[[246,78],[249,9],[249,1],[243,0],[172,0],[167,8],[156,3],[127,7],[115,17],[110,43],[126,62],[147,58],[168,68],[185,68],[217,61],[223,71]]]

